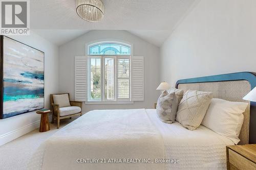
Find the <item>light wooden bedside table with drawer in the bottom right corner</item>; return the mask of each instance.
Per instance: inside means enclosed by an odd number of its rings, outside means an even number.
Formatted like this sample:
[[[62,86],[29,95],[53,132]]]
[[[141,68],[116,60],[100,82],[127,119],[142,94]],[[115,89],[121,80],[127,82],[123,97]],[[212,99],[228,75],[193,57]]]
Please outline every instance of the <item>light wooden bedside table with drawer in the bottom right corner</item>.
[[[227,146],[227,169],[256,169],[256,144]]]

